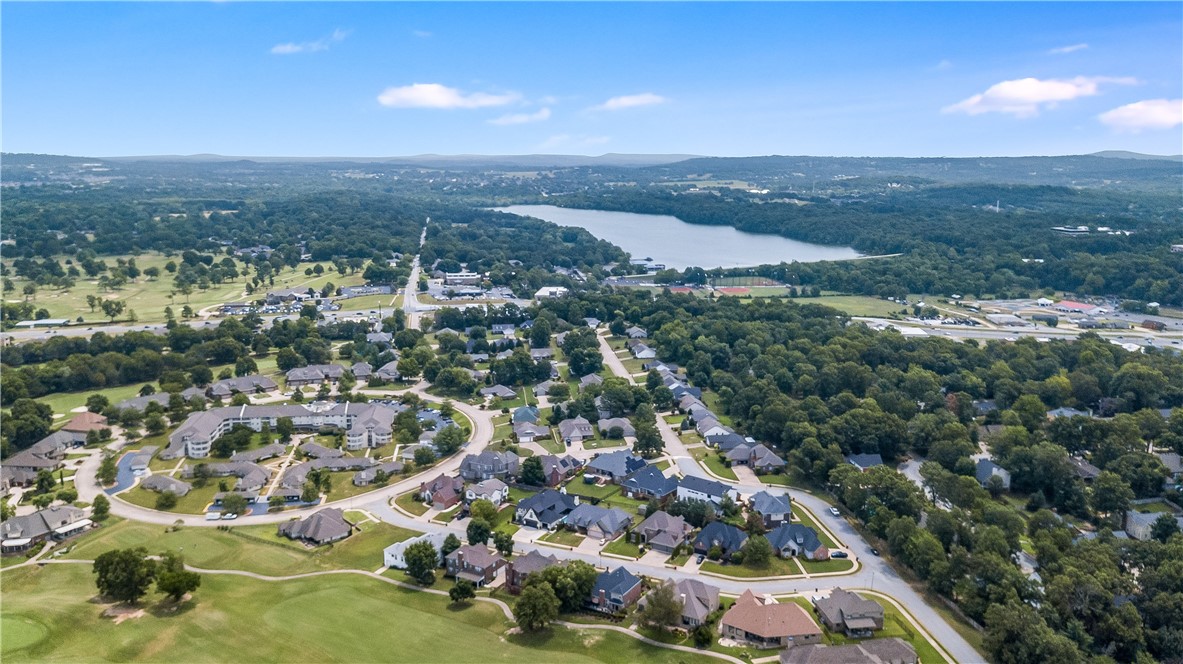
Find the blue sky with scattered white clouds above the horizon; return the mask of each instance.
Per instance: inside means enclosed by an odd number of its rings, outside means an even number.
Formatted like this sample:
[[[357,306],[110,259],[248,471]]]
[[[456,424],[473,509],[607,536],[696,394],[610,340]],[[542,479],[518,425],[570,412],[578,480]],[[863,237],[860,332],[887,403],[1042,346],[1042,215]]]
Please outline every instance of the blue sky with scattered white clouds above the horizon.
[[[4,2],[0,13],[5,152],[1183,149],[1181,2]]]

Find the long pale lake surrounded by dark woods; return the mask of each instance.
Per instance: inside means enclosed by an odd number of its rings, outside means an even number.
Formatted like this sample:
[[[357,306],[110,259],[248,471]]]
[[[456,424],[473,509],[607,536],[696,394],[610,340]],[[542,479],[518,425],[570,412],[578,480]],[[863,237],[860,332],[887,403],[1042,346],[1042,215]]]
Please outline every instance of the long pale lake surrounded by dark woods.
[[[745,233],[731,226],[687,224],[665,214],[636,214],[602,209],[574,209],[552,205],[512,205],[496,208],[534,217],[560,226],[577,226],[623,249],[633,258],[651,258],[666,267],[750,267],[754,265],[813,263],[858,258],[847,246],[802,243],[764,233]]]

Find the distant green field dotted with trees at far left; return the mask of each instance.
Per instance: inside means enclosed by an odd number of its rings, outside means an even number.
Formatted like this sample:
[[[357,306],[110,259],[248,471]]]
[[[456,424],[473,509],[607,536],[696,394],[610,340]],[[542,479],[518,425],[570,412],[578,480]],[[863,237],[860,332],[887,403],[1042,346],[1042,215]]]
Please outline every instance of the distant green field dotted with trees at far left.
[[[116,258],[114,256],[104,256],[103,260],[108,265],[115,265]],[[128,258],[128,257],[122,257]],[[160,267],[161,276],[157,279],[148,279],[141,276],[135,282],[129,282],[127,285],[114,291],[101,291],[98,288],[98,279],[78,279],[73,288],[66,290],[49,290],[38,289],[37,295],[31,302],[35,304],[38,309],[46,309],[50,312],[51,318],[70,318],[73,321],[78,316],[83,317],[85,323],[105,323],[109,318],[103,315],[101,309],[90,310],[86,304],[86,296],[93,295],[103,299],[118,299],[128,303],[128,309],[135,310],[136,317],[142,323],[163,323],[164,322],[164,308],[172,307],[174,314],[180,317],[181,308],[188,304],[194,311],[201,311],[208,307],[215,307],[226,302],[246,302],[248,299],[257,299],[266,290],[279,290],[286,288],[313,288],[319,290],[327,283],[331,282],[334,285],[358,285],[362,283],[361,272],[355,275],[341,276],[336,272],[325,272],[321,276],[309,277],[304,275],[306,267],[311,267],[315,263],[300,263],[296,269],[283,270],[276,276],[274,285],[267,285],[266,289],[260,289],[256,295],[246,296],[243,288],[246,284],[246,278],[239,277],[233,282],[225,282],[221,284],[211,285],[206,290],[194,289],[189,294],[188,298],[181,294],[174,294],[174,284],[172,276],[164,271],[164,264],[169,260],[180,262],[179,257],[166,257],[161,253],[143,253],[136,256],[136,266],[140,270],[147,267]],[[219,258],[220,260],[220,258]],[[241,269],[243,264],[239,263]],[[21,289],[27,283],[26,279],[14,278],[14,284],[17,285],[17,291],[20,292]],[[123,316],[127,317],[127,311]]]

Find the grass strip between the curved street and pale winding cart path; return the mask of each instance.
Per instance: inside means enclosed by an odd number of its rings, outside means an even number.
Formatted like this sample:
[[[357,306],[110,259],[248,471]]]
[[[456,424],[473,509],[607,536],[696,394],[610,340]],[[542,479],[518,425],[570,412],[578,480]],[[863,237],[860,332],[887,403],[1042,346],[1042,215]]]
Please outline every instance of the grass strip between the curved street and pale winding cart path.
[[[350,514],[349,520],[360,522],[356,514]],[[382,549],[419,534],[387,523],[362,522],[361,528],[361,533],[340,542],[309,548],[279,537],[278,526],[233,526],[228,530],[198,527],[166,533],[163,526],[124,521],[86,535],[64,557],[93,560],[111,549],[144,547],[149,553],[181,550],[195,567],[273,576],[322,569],[374,570],[382,566]]]

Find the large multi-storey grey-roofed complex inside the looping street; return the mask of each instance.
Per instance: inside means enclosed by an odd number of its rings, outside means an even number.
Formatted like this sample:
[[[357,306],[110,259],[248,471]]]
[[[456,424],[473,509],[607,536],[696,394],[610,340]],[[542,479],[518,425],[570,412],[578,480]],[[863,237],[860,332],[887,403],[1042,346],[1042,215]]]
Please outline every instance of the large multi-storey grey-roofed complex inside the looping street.
[[[209,408],[189,413],[185,423],[168,436],[168,447],[160,453],[160,457],[205,458],[209,456],[213,443],[234,426],[243,425],[253,431],[263,431],[263,425],[266,424],[274,431],[279,418],[290,418],[292,425],[303,431],[316,431],[324,426],[343,428],[347,450],[381,447],[393,439],[396,414],[395,408],[381,404],[351,402],[319,408],[300,405]]]

